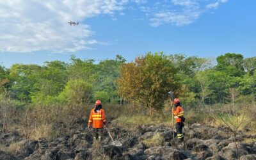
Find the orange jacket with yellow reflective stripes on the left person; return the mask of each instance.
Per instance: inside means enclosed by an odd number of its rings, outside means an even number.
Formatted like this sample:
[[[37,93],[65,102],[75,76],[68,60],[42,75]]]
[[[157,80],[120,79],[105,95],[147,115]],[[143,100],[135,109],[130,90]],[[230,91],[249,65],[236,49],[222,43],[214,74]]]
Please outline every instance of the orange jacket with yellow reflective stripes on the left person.
[[[88,125],[92,124],[94,129],[101,129],[104,127],[104,123],[106,122],[104,109],[97,110],[96,113],[94,109],[92,109],[90,118],[88,121]]]

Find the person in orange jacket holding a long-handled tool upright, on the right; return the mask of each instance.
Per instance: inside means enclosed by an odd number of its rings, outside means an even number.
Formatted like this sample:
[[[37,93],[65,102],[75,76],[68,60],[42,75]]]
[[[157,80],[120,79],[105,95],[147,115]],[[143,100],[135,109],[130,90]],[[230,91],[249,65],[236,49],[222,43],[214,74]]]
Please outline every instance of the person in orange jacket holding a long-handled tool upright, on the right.
[[[175,98],[173,100],[173,104],[175,105],[175,108],[172,109],[175,121],[176,121],[176,132],[179,142],[182,142],[184,140],[183,134],[182,134],[182,128],[184,127],[184,109],[182,108],[180,104],[180,100]]]

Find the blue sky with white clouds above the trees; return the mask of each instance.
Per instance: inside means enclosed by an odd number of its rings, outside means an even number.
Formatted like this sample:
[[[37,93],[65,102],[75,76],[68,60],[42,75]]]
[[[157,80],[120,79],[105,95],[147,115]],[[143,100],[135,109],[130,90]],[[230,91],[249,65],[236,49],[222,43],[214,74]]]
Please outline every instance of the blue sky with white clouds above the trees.
[[[0,64],[68,62],[72,54],[132,61],[149,51],[248,58],[256,56],[255,6],[252,0],[0,1]]]

